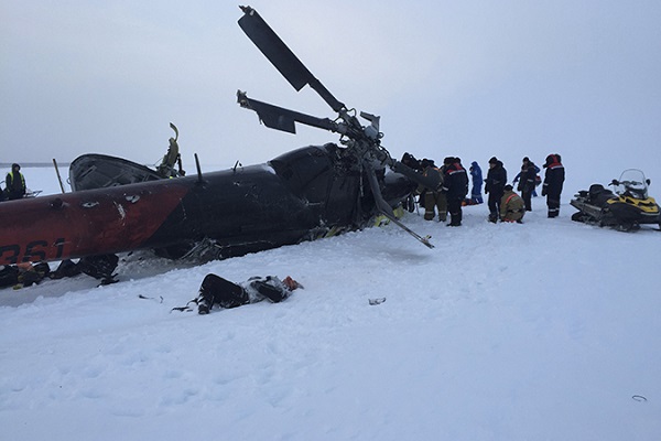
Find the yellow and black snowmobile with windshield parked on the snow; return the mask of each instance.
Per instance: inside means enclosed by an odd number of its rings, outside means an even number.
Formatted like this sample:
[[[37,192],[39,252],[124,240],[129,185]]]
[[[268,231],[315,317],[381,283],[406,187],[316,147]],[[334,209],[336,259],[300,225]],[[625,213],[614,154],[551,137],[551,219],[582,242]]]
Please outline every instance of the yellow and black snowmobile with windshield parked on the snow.
[[[659,205],[648,195],[650,180],[640,170],[628,169],[619,180],[613,180],[615,190],[593,184],[582,190],[571,204],[578,209],[572,220],[613,227],[621,232],[640,229],[642,224],[660,224]],[[661,227],[661,224],[660,224]]]

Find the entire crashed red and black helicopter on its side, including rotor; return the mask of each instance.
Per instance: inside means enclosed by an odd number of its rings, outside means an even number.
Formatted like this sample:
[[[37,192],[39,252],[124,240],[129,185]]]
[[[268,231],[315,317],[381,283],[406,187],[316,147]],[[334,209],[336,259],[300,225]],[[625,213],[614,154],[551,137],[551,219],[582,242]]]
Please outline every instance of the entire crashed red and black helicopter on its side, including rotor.
[[[433,178],[393,160],[381,146],[379,117],[354,111],[328,92],[266,21],[240,7],[240,28],[296,89],[310,85],[337,114],[317,118],[249,98],[267,127],[295,133],[295,122],[340,135],[339,146],[308,146],[268,163],[183,175],[86,154],[72,162],[72,193],[0,204],[0,265],[80,258],[84,272],[116,281],[117,254],[154,249],[171,258],[205,252],[227,258],[358,229],[382,214],[432,248],[393,214],[416,185]],[[176,128],[172,126],[175,132]],[[171,139],[171,149],[176,138]],[[172,170],[171,170],[172,169]],[[388,170],[390,169],[390,170]],[[173,179],[164,179],[173,178]]]

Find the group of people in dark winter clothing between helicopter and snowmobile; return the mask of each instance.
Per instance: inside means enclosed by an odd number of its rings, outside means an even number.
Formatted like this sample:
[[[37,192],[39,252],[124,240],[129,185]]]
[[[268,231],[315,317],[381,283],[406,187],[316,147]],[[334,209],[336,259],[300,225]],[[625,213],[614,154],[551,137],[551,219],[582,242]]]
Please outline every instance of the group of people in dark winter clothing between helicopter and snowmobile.
[[[404,153],[402,162],[412,169],[420,171],[424,176],[437,173],[441,184],[435,189],[419,186],[420,204],[424,206],[424,218],[433,220],[438,213],[438,220],[446,222],[449,213],[448,226],[462,225],[462,206],[484,203],[481,192],[483,184],[485,194],[488,195],[489,222],[516,222],[522,223],[525,212],[532,211],[532,197],[537,196],[535,187],[542,185],[542,196],[546,196],[548,216],[557,217],[560,214],[560,196],[565,180],[562,158],[557,153],[546,157],[543,168],[544,179],[540,178],[540,168],[525,157],[522,160],[521,171],[513,180],[514,187],[508,184],[507,170],[502,161],[492,157],[489,159],[487,178],[483,179],[483,171],[474,161],[468,169],[473,182],[470,197],[468,194],[468,176],[462,166],[459,158],[448,157],[443,165],[437,168],[433,160],[423,159],[416,161],[410,153]]]

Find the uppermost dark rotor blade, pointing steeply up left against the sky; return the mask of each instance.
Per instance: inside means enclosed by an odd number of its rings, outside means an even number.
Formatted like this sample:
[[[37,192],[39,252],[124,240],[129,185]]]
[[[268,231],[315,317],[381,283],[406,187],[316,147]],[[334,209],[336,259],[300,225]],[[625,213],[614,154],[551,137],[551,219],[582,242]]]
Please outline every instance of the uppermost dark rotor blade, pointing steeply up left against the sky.
[[[257,11],[250,7],[239,7],[243,17],[239,19],[239,26],[252,43],[264,54],[275,68],[296,89],[301,90],[306,84],[333,108],[340,111],[344,103],[337,100],[324,85],[312,75],[312,72],[299,60],[278,34],[267,24]]]

